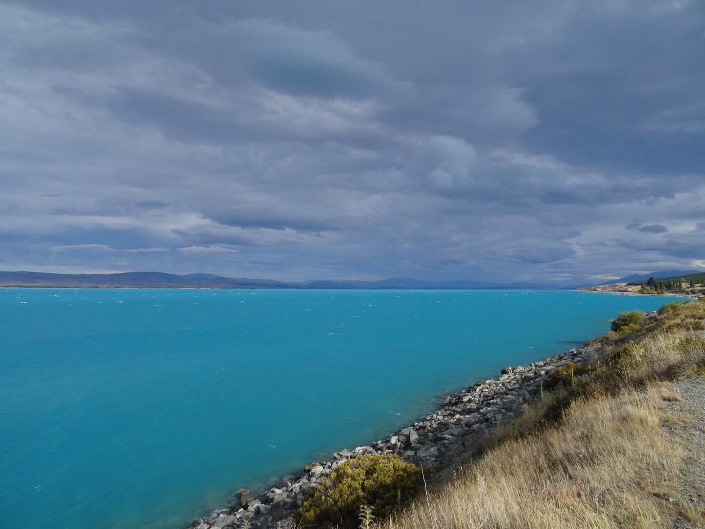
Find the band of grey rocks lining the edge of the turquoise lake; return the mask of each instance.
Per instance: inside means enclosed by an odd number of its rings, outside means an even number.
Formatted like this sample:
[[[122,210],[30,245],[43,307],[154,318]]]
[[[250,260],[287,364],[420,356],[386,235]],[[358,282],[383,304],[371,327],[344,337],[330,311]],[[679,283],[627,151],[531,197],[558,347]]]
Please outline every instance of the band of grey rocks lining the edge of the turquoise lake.
[[[655,317],[656,312],[646,316]],[[601,358],[604,349],[600,341],[589,341],[547,360],[505,367],[496,379],[444,396],[441,409],[386,439],[357,446],[353,451],[338,451],[332,461],[311,463],[298,476],[285,476],[276,486],[259,494],[238,490],[233,494],[233,506],[198,518],[187,529],[235,529],[246,521],[250,527],[274,528],[277,523],[290,520],[305,492],[320,485],[322,476],[360,454],[398,454],[405,462],[425,469],[450,468],[455,458],[477,450],[499,425],[511,422],[527,405],[541,399],[543,382],[551,371],[570,362],[587,367]]]

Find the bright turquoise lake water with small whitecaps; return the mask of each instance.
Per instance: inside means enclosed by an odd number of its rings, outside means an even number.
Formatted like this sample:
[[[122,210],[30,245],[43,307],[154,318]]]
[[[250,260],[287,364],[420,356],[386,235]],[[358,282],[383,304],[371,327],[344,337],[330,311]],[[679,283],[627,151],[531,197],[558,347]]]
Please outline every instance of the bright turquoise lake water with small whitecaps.
[[[0,290],[0,528],[181,528],[672,299]]]

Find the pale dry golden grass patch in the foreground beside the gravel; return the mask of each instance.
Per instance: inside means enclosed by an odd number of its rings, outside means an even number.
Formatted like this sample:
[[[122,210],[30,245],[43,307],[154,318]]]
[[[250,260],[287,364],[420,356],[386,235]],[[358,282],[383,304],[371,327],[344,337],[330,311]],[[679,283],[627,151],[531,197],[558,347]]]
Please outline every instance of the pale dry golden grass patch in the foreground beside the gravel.
[[[490,451],[393,523],[412,528],[665,528],[682,453],[660,389],[573,403],[560,427]],[[658,478],[647,478],[649,475]],[[656,495],[654,495],[656,493]]]

